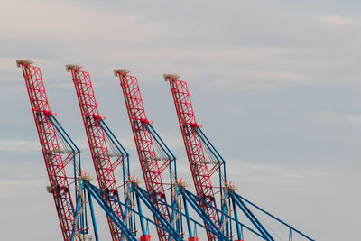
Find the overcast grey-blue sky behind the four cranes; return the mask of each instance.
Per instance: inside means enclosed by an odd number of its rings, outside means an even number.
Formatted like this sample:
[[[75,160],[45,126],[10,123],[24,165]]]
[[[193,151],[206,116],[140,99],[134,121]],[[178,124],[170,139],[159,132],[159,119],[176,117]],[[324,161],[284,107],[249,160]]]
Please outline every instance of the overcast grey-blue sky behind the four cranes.
[[[360,1],[1,1],[0,233],[61,240],[22,72],[42,68],[53,112],[93,170],[65,64],[91,74],[102,116],[131,153],[115,68],[188,163],[169,86],[187,80],[196,117],[238,192],[317,240],[360,240]],[[106,230],[107,231],[107,230]],[[106,239],[105,239],[106,240]]]

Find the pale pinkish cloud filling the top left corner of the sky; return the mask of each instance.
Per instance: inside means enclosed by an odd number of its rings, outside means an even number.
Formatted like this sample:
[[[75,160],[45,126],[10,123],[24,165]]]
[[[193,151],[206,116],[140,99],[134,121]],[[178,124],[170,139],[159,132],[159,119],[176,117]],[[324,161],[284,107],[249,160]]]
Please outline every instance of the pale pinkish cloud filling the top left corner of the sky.
[[[159,29],[141,16],[111,13],[77,1],[7,3],[0,11],[0,31],[6,32],[1,36],[4,40],[72,42],[78,48],[99,41],[115,47],[119,37],[123,42],[137,42],[160,35]]]

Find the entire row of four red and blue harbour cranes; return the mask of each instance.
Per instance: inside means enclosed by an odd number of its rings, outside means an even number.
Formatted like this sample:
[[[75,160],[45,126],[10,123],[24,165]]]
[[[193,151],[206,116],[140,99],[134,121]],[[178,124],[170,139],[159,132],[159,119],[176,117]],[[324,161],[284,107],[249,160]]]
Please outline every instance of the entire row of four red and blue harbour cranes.
[[[113,241],[138,240],[137,225],[142,229],[140,240],[149,241],[148,224],[156,228],[160,240],[182,241],[186,235],[183,220],[187,222],[189,241],[199,240],[196,227],[205,230],[208,240],[212,241],[242,241],[244,229],[247,235],[275,240],[274,236],[278,235],[271,227],[266,227],[264,220],[255,212],[281,225],[283,230],[288,231],[289,240],[294,235],[314,240],[236,193],[236,186],[227,182],[225,160],[197,124],[187,83],[181,81],[178,75],[167,74],[164,79],[171,85],[197,195],[186,190],[187,184],[177,179],[176,158],[148,121],[138,80],[128,75],[129,71],[115,70],[115,75],[119,77],[123,89],[146,190],[139,186],[138,179],[130,176],[128,153],[99,115],[88,72],[80,70],[79,66],[67,65],[76,88],[99,188],[90,183],[91,178],[86,172],[81,171],[79,148],[51,112],[40,68],[32,66],[31,60],[16,60],[16,63],[23,70],[51,183],[47,190],[53,196],[64,241],[93,240],[88,233],[87,209],[90,210],[94,236],[99,241],[93,199],[106,213]],[[66,171],[69,162],[74,164],[75,191],[71,190],[71,194],[76,197],[76,205],[71,199]],[[121,164],[124,202],[119,199],[120,185],[116,184],[115,175],[116,167]],[[162,181],[165,173],[169,174],[171,182],[171,204],[167,203],[170,192],[164,189],[167,183]],[[212,185],[216,182],[219,187]]]

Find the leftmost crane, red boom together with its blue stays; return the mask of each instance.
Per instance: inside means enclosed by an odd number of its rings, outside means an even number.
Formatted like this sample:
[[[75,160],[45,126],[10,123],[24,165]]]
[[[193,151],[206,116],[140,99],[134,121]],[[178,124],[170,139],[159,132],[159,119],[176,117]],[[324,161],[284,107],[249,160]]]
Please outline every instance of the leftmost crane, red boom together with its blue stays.
[[[81,172],[79,149],[51,112],[40,68],[32,66],[32,60],[16,60],[16,64],[23,70],[50,181],[47,190],[55,202],[62,236],[65,241],[80,240],[88,234],[86,213],[81,211],[76,214],[74,210],[66,171],[66,166],[72,162],[75,183],[73,192],[78,199],[80,193],[77,191],[77,177]]]

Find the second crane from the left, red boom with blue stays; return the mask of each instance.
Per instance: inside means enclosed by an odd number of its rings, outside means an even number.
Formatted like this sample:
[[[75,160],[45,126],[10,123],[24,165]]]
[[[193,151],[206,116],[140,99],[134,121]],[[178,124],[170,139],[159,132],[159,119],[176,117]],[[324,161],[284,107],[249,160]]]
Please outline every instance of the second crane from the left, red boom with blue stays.
[[[123,146],[116,140],[103,117],[99,115],[97,100],[94,94],[90,75],[87,71],[80,70],[78,65],[67,65],[66,69],[71,72],[74,86],[79,100],[81,116],[88,136],[88,144],[94,167],[97,173],[99,189],[108,193],[114,199],[106,199],[110,209],[116,213],[116,217],[123,219],[124,213],[119,200],[118,185],[116,183],[116,167],[123,167],[123,181],[129,177],[128,154]],[[111,151],[110,151],[111,150]],[[127,163],[125,163],[125,160]],[[125,185],[124,185],[125,187]],[[125,188],[124,188],[125,192]],[[109,215],[106,216],[113,241],[123,240],[122,230],[116,226]]]

